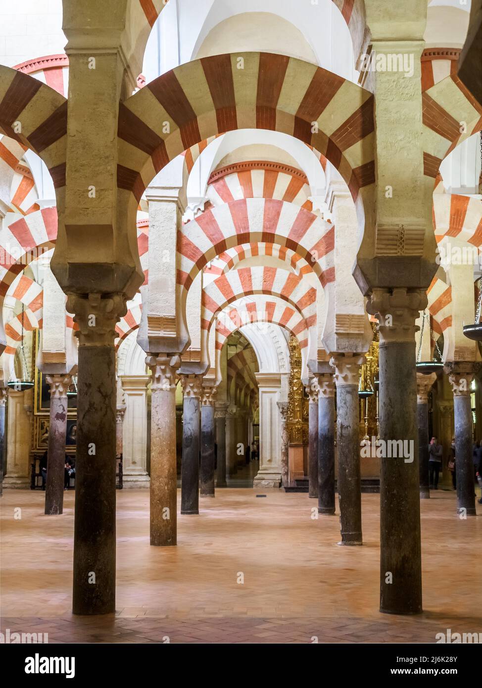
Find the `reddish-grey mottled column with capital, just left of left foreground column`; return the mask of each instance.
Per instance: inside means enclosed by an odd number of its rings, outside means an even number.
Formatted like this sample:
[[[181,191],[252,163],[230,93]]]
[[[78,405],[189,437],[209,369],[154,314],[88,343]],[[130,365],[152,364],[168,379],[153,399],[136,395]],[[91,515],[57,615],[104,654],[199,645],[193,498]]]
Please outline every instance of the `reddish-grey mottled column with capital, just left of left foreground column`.
[[[65,436],[67,435],[67,390],[69,375],[46,375],[50,385],[50,425],[45,484],[45,515],[63,513],[65,482]]]

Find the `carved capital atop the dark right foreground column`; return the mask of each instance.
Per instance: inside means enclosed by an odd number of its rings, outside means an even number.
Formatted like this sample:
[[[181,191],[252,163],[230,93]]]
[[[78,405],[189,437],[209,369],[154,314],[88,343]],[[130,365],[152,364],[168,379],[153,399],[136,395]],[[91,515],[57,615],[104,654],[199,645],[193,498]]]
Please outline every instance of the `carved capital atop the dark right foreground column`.
[[[380,345],[415,342],[415,332],[420,329],[415,321],[427,303],[427,294],[422,289],[373,289],[366,311],[378,319]]]

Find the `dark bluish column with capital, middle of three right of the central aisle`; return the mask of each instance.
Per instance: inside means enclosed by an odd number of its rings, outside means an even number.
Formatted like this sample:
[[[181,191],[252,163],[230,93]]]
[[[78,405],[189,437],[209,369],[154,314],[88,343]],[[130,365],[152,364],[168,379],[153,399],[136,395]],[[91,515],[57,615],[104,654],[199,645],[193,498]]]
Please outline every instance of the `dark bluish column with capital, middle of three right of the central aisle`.
[[[318,513],[335,513],[335,382],[318,375]]]

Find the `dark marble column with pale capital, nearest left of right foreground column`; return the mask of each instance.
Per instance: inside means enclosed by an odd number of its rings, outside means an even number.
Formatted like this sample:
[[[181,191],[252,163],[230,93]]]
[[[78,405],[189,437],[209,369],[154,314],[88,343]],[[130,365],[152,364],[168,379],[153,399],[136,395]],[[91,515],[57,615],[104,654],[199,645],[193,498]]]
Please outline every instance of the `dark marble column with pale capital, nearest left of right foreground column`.
[[[336,354],[331,358],[336,382],[336,444],[341,545],[362,544],[360,477],[360,402],[358,382],[364,356]]]

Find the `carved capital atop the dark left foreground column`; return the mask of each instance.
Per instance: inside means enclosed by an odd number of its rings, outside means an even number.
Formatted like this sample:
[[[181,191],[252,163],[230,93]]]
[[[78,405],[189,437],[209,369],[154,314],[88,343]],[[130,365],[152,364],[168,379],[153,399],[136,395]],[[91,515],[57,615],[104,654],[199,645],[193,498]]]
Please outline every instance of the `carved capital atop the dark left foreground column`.
[[[74,313],[79,329],[75,333],[80,346],[113,346],[118,336],[116,324],[127,313],[124,294],[71,294],[67,299],[67,312]]]

